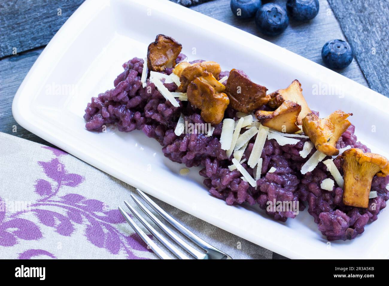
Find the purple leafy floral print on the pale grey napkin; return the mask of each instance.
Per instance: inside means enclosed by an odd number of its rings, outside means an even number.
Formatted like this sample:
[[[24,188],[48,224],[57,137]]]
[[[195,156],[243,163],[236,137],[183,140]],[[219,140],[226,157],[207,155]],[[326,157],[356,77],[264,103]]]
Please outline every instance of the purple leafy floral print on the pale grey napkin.
[[[32,202],[28,210],[13,213],[7,211],[4,200],[0,198],[0,246],[12,247],[25,240],[39,241],[45,235],[42,226],[52,228],[59,235],[71,237],[77,225],[84,225],[83,237],[94,246],[111,254],[124,251],[128,259],[144,259],[135,253],[151,250],[135,233],[128,235],[118,229],[117,226],[126,222],[116,208],[111,209],[104,202],[64,190],[65,186],[79,188],[86,180],[82,175],[68,172],[63,163],[65,160],[61,160],[68,154],[47,146],[43,148],[52,151],[55,157],[37,162],[42,169],[42,177],[35,181],[34,191],[40,198]],[[21,218],[25,212],[31,212],[38,223]],[[57,258],[45,249],[28,249],[19,253],[18,258],[30,259],[35,256]]]

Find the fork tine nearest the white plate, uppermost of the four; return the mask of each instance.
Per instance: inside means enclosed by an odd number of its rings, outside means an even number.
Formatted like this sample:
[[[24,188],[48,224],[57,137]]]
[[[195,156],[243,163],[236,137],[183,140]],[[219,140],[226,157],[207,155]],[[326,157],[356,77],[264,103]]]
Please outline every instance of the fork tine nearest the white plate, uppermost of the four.
[[[140,189],[137,189],[137,192],[139,193],[139,195],[142,196],[142,198],[147,202],[147,204],[149,204],[156,212],[158,212],[158,214],[161,217],[166,219],[166,221],[168,221],[168,223],[170,223],[177,230],[179,230],[179,232],[183,233],[187,238],[189,238],[193,242],[195,242],[202,249],[204,249],[206,251],[212,250],[212,251],[216,251],[217,253],[222,253],[222,254],[226,255],[225,253],[221,252],[219,249],[210,245],[208,242],[205,242],[204,240],[202,240],[200,237],[198,237],[193,232],[188,230],[185,226],[181,225],[178,221],[176,221],[174,218],[172,218],[172,216],[170,216],[167,212],[165,212],[163,209],[161,209],[161,207],[159,207],[159,205],[154,203],[151,200],[151,198],[147,197],[147,195],[144,192],[142,192]]]

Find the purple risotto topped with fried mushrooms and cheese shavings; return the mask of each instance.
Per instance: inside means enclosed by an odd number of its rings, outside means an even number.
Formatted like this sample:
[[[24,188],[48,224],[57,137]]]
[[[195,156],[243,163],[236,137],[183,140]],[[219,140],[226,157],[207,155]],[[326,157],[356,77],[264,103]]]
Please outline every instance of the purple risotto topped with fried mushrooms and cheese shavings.
[[[352,114],[319,118],[297,80],[267,93],[241,70],[187,62],[180,52],[175,40],[158,35],[147,61],[125,62],[114,88],[88,103],[86,129],[142,130],[170,160],[202,166],[212,196],[258,204],[283,222],[307,208],[328,240],[354,239],[377,219],[389,199],[389,164],[357,141],[346,119]],[[185,133],[182,123],[211,128]]]

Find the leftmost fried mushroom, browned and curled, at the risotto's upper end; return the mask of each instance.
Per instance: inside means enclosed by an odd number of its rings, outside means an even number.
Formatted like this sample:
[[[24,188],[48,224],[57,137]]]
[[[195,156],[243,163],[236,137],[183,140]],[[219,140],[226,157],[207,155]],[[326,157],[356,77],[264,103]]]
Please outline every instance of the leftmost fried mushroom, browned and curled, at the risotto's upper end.
[[[163,72],[175,67],[175,60],[182,46],[173,38],[159,34],[147,48],[147,65],[153,72]]]

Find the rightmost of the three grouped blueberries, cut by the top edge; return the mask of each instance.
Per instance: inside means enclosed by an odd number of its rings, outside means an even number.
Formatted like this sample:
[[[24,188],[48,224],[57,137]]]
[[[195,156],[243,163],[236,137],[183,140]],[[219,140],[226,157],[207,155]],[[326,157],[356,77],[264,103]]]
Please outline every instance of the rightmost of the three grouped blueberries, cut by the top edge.
[[[288,0],[286,10],[297,21],[308,21],[319,13],[319,0]]]

